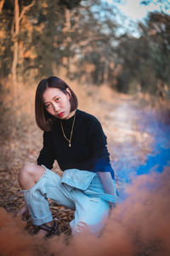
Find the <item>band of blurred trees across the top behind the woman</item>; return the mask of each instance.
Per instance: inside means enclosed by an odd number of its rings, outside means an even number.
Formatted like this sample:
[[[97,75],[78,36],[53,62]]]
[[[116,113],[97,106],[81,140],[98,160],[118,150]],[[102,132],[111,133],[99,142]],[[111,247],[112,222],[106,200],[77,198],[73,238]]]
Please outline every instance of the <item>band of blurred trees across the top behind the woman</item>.
[[[70,79],[169,97],[169,24],[150,13],[134,36],[119,32],[123,17],[101,0],[1,0],[1,81],[34,84],[64,68]]]

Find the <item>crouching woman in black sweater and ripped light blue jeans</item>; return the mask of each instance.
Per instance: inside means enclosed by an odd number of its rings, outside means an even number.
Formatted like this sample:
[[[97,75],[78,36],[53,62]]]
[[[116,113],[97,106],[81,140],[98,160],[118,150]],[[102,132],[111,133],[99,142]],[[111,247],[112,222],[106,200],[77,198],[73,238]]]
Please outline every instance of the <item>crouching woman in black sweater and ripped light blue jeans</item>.
[[[26,207],[40,233],[57,232],[48,198],[75,210],[71,230],[99,235],[116,202],[114,172],[99,120],[77,109],[77,96],[57,77],[42,79],[36,92],[36,120],[43,132],[37,165],[19,173]],[[58,161],[63,176],[50,171]],[[23,212],[23,211],[22,211]]]

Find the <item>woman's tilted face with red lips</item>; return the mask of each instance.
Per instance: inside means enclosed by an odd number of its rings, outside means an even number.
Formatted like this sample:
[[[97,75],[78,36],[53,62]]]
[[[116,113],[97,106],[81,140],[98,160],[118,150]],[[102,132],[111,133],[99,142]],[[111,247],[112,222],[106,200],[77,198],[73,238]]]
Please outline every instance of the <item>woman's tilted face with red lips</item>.
[[[71,92],[69,89],[67,94],[58,88],[47,88],[42,100],[44,107],[54,117],[58,119],[69,119],[73,114],[71,113]]]

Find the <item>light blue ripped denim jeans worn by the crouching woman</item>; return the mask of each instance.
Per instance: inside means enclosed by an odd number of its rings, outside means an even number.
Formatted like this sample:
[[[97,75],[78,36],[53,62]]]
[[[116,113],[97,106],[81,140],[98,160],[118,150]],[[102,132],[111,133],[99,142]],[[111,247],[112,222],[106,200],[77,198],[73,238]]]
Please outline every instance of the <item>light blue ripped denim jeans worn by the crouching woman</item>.
[[[49,198],[75,211],[75,218],[70,223],[73,234],[87,227],[91,233],[98,235],[109,215],[108,201],[116,203],[115,181],[115,195],[108,195],[95,172],[68,169],[60,177],[43,167],[44,173],[34,187],[23,190],[33,224],[41,225],[53,220]]]

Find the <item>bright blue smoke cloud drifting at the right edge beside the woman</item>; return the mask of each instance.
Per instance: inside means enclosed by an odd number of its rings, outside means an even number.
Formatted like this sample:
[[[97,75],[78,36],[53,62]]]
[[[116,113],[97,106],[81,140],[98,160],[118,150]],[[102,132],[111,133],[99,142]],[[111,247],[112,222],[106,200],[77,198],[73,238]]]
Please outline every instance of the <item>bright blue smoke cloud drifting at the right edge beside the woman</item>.
[[[163,172],[166,166],[170,166],[170,125],[158,119],[156,113],[139,110],[138,114],[142,117],[138,119],[139,131],[147,132],[154,137],[154,143],[151,145],[151,153],[145,155],[142,163],[133,143],[122,143],[119,160],[112,165],[115,167],[116,179],[121,184],[120,194],[123,198],[123,188],[126,183],[131,183],[133,177],[150,172]]]

